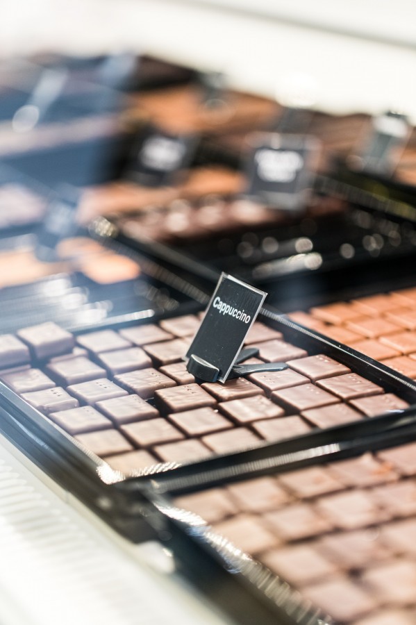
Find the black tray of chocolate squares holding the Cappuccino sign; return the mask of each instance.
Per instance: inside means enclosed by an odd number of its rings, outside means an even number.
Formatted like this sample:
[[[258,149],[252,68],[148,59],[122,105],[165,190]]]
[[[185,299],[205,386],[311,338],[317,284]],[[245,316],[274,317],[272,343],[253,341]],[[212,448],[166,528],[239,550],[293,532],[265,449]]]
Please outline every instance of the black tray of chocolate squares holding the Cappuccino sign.
[[[331,444],[356,427],[383,433],[413,415],[415,383],[272,313],[253,326],[249,347],[288,369],[196,383],[182,358],[198,324],[165,313],[3,339],[1,431],[131,540],[158,525],[142,494],[149,481],[252,472],[316,436]]]

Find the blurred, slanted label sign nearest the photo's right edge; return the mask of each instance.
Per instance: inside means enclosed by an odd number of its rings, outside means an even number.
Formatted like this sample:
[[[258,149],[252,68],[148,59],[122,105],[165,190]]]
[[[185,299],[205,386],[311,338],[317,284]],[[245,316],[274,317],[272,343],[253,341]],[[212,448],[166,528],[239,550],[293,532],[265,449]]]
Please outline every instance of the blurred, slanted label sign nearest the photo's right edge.
[[[359,156],[360,169],[374,174],[392,174],[409,135],[406,115],[388,112],[374,117],[372,133]]]

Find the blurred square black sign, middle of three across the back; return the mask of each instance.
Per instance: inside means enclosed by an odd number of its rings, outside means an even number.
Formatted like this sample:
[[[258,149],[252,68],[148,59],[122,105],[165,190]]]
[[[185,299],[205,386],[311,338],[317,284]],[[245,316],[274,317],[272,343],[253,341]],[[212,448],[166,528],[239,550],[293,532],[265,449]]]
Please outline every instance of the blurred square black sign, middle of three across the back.
[[[247,195],[275,208],[303,208],[318,147],[319,142],[309,136],[260,135],[249,160]]]

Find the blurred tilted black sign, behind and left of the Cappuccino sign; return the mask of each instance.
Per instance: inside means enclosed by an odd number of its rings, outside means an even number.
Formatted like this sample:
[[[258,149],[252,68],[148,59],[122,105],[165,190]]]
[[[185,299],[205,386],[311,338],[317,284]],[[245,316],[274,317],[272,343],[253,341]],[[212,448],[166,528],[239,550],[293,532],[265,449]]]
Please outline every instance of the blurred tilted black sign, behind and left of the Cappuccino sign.
[[[194,136],[148,129],[135,149],[128,176],[148,187],[169,185],[181,169],[190,165],[196,147]]]

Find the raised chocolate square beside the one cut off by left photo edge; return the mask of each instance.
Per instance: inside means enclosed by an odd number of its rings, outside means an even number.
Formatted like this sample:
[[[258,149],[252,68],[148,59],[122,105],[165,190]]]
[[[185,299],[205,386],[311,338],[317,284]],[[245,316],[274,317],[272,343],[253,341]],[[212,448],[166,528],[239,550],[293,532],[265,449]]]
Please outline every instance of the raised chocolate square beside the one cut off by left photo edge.
[[[46,322],[30,328],[23,328],[17,332],[33,352],[35,358],[51,358],[61,353],[71,351],[75,345],[75,339],[66,330],[53,322]]]

